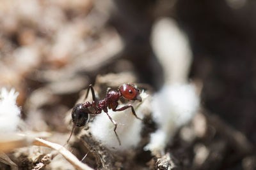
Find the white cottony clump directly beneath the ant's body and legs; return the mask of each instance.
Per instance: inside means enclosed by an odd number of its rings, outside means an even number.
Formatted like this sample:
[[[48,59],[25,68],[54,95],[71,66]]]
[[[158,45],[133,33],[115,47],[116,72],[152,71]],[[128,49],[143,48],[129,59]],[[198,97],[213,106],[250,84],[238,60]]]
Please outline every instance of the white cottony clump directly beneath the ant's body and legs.
[[[147,94],[142,92],[141,98],[144,100],[146,97]],[[134,106],[136,115],[143,118],[143,109],[141,109],[143,108],[143,103],[136,109],[138,104],[140,103],[135,102],[132,105]],[[122,106],[125,105],[120,104],[118,108],[121,108]],[[92,124],[90,124],[90,131],[92,132],[93,138],[99,140],[104,146],[114,150],[122,151],[136,147],[141,139],[140,132],[143,122],[132,115],[131,108],[124,111],[108,110],[108,113],[117,123],[116,132],[120,138],[121,145],[118,144],[118,139],[113,131],[115,125],[113,125],[109,120],[108,115],[104,112],[97,115]]]

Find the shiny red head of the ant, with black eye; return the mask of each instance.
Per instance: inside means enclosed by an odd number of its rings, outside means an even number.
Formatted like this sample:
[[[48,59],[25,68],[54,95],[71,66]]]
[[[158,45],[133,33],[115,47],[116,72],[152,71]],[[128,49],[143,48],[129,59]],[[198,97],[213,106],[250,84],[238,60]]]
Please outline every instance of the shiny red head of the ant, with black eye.
[[[139,89],[136,89],[132,85],[124,84],[119,87],[119,91],[125,99],[141,101]]]

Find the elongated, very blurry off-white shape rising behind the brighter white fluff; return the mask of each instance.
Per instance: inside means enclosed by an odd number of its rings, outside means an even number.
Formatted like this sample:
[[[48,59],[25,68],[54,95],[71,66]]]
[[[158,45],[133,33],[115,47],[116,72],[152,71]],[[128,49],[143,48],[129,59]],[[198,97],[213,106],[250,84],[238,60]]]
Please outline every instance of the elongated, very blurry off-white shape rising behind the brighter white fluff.
[[[157,20],[152,29],[151,43],[163,66],[166,83],[188,80],[192,53],[187,36],[171,18]]]

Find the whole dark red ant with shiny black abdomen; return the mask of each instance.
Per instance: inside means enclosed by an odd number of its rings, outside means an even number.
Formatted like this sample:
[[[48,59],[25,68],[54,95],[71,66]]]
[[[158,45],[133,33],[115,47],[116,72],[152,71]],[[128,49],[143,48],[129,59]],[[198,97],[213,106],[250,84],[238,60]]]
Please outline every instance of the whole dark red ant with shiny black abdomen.
[[[70,134],[70,137],[67,140],[67,143],[71,138],[75,127],[84,126],[88,122],[90,118],[90,114],[97,115],[97,114],[100,114],[103,110],[108,115],[111,122],[115,125],[114,132],[115,132],[116,138],[118,139],[119,145],[121,145],[121,141],[116,133],[117,124],[115,120],[113,120],[113,118],[109,116],[108,108],[112,109],[113,111],[123,111],[123,110],[126,110],[127,108],[131,108],[132,114],[134,115],[134,117],[142,120],[141,118],[137,117],[134,111],[134,108],[131,104],[128,104],[127,106],[123,106],[122,108],[116,109],[118,106],[118,100],[120,99],[120,97],[124,97],[125,99],[133,100],[133,101],[138,100],[141,102],[140,91],[132,85],[124,84],[120,86],[118,90],[109,89],[107,91],[106,97],[97,102],[92,85],[89,85],[88,90],[86,92],[85,99],[88,97],[90,89],[92,91],[92,99],[93,99],[92,103],[86,101],[86,103],[76,104],[76,106],[74,106],[72,110],[72,122],[74,125],[73,125],[72,132]],[[95,109],[95,112],[93,113],[92,111],[90,111],[88,109],[89,107],[93,107]]]

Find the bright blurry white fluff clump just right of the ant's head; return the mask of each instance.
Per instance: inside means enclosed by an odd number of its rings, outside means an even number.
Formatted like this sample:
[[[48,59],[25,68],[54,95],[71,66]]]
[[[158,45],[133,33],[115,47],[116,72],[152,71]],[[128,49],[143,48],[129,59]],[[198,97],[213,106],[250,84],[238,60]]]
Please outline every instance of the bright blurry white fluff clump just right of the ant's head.
[[[158,125],[145,150],[163,152],[180,126],[188,123],[198,110],[199,99],[193,85],[168,85],[152,100],[153,119]]]

